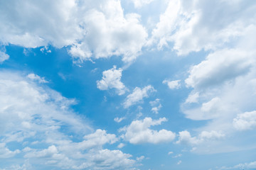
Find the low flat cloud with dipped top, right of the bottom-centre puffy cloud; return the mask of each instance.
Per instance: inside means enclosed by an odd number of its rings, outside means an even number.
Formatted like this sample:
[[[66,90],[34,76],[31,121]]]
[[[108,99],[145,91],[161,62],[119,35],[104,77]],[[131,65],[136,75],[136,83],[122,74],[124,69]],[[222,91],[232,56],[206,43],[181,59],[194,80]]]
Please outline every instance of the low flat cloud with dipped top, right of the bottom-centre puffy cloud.
[[[188,145],[198,145],[202,142],[207,142],[211,140],[220,140],[225,137],[223,132],[216,132],[214,130],[208,132],[201,132],[198,137],[191,137],[190,132],[184,130],[182,132],[178,132],[178,141],[177,144],[188,144]]]

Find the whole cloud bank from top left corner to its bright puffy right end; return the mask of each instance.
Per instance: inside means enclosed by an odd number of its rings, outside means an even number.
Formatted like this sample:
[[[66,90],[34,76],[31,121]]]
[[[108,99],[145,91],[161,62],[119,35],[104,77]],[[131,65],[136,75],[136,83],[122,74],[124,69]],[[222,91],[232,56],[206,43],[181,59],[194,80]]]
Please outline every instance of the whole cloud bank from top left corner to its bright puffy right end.
[[[124,16],[119,0],[2,1],[0,42],[22,47],[68,47],[74,62],[122,56],[132,62],[146,42],[140,16]]]

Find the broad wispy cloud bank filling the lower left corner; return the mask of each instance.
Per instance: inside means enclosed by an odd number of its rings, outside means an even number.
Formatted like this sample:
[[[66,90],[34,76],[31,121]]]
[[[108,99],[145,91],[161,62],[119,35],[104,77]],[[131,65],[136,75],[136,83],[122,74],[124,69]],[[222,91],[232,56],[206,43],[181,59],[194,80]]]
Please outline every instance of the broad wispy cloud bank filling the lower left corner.
[[[106,130],[92,130],[70,108],[74,99],[18,72],[0,72],[0,152],[4,169],[132,169],[136,160],[104,149],[118,141]],[[9,149],[9,145],[16,145]],[[28,160],[31,164],[26,164]]]

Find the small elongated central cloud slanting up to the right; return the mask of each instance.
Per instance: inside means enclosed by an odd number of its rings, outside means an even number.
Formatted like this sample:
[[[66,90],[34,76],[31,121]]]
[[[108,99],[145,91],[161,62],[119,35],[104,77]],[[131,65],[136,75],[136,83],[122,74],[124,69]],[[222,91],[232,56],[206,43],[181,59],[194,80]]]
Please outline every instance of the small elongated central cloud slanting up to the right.
[[[130,106],[139,103],[140,101],[143,101],[143,98],[149,97],[149,94],[156,91],[153,86],[145,86],[143,89],[140,89],[139,87],[136,87],[132,94],[129,94],[127,98],[125,99],[123,105],[124,108],[129,108]]]

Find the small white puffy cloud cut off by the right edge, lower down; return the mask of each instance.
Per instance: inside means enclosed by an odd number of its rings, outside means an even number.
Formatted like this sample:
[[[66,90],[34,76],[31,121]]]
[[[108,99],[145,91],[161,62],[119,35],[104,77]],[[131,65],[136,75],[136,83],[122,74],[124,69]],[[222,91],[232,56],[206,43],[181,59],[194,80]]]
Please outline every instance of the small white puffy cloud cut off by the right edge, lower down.
[[[238,116],[233,119],[233,125],[237,130],[256,128],[256,111],[238,114]]]

